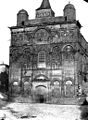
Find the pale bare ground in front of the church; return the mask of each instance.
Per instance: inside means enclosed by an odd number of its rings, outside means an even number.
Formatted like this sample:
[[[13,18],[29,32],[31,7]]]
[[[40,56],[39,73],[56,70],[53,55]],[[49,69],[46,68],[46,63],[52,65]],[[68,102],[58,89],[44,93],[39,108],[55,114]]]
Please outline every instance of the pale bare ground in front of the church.
[[[9,103],[0,110],[5,120],[81,120],[80,106]]]

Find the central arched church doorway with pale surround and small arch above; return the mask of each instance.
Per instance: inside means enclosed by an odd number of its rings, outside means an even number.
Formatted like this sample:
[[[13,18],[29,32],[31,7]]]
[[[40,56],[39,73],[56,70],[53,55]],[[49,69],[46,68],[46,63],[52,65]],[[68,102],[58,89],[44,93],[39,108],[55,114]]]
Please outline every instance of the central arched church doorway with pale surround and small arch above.
[[[48,99],[49,79],[45,75],[38,75],[33,79],[33,99],[38,103],[45,103]]]

